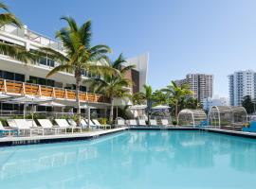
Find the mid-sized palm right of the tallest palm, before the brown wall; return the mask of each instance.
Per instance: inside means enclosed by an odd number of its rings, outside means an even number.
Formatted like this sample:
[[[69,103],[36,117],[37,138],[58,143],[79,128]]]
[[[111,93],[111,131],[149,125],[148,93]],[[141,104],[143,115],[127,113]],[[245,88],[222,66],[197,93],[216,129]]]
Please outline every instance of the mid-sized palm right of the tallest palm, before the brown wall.
[[[122,54],[119,55],[117,60],[108,60],[108,62],[112,69],[119,72],[119,75],[106,73],[102,77],[89,78],[85,80],[85,82],[90,83],[91,88],[93,88],[95,92],[105,94],[110,99],[111,108],[109,121],[113,123],[114,98],[130,97],[130,90],[126,88],[132,85],[132,81],[125,78],[125,74],[135,68],[135,65],[124,66],[123,63],[126,62],[126,60],[123,59]]]

